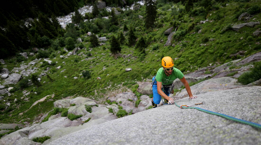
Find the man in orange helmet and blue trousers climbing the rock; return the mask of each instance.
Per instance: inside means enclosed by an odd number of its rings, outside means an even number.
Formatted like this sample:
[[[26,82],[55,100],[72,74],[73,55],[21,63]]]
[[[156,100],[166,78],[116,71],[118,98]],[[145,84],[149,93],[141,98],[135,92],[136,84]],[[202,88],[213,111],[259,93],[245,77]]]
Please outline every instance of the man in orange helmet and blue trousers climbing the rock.
[[[192,95],[189,84],[182,72],[179,69],[174,68],[174,62],[171,57],[163,57],[161,60],[161,65],[163,67],[160,68],[156,76],[152,78],[153,97],[151,103],[153,108],[156,108],[157,104],[161,102],[161,96],[164,98],[165,104],[174,103],[173,98],[170,98],[169,95],[173,94],[173,81],[176,78],[179,78],[180,81],[184,84],[189,99],[197,98],[196,96]]]

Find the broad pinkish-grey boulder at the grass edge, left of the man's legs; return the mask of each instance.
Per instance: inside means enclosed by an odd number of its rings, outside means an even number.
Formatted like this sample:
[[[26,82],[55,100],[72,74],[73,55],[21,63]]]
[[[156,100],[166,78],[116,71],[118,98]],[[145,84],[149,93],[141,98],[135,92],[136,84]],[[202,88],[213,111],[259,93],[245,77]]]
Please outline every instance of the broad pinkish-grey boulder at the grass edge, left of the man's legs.
[[[123,109],[126,110],[127,112],[130,112],[131,110],[135,109],[135,101],[137,101],[138,98],[137,96],[135,96],[134,93],[126,92],[126,93],[117,94],[115,97],[109,97],[108,100],[110,100],[111,102],[116,101],[117,103],[121,101],[121,104],[119,105],[122,106]]]

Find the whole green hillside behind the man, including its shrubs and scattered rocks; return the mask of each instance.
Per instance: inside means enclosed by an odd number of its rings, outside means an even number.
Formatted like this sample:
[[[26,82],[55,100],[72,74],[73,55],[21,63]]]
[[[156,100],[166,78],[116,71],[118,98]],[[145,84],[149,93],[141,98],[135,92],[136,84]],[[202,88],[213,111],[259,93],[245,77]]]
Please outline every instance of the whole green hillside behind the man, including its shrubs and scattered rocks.
[[[36,39],[49,43],[24,50],[28,58],[17,53],[4,59],[5,63],[1,65],[9,70],[8,74],[21,74],[22,79],[10,84],[5,79],[0,80],[2,89],[13,87],[9,94],[1,95],[0,122],[33,123],[62,98],[82,96],[105,104],[107,97],[122,92],[132,91],[140,97],[137,82],[151,80],[161,67],[163,56],[171,56],[175,59],[175,67],[188,74],[212,66],[205,70],[208,73],[223,63],[260,52],[260,1],[211,1],[207,6],[205,4],[206,1],[195,2],[193,9],[186,11],[185,3],[158,1],[157,19],[152,28],[144,26],[144,5],[136,4],[140,7],[136,10],[117,8],[120,12],[115,15],[118,24],[112,23],[111,18],[103,18],[111,14],[102,9],[95,19],[68,24],[62,36]],[[238,20],[243,12],[253,13],[246,20],[245,17]],[[233,29],[233,26],[250,22],[254,23],[250,27]],[[171,27],[176,32],[172,33],[171,45],[164,46],[169,36],[164,32]],[[38,30],[36,26],[35,29]],[[130,39],[131,31],[135,36],[132,44],[129,43],[133,40]],[[106,37],[106,41],[94,47],[88,32],[99,38]],[[113,36],[120,40],[120,53],[110,51]],[[69,48],[71,44],[73,47]],[[52,63],[44,61],[45,58]],[[132,70],[126,71],[126,68]],[[38,78],[40,82],[34,80]],[[25,95],[28,92],[31,93]],[[31,107],[47,95],[52,97]]]

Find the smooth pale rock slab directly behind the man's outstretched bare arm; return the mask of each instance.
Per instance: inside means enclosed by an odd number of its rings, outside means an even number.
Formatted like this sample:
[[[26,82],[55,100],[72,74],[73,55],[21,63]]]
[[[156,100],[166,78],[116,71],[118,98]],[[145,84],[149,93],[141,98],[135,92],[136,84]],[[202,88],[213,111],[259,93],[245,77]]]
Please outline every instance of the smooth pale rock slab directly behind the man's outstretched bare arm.
[[[240,87],[242,87],[242,85],[237,83],[237,80],[235,78],[220,77],[202,81],[198,84],[191,86],[190,89],[193,96],[197,96],[198,94],[207,93],[209,91],[220,91]],[[185,97],[188,97],[186,89],[181,90],[181,92],[178,95],[174,96],[175,100],[179,100]]]

